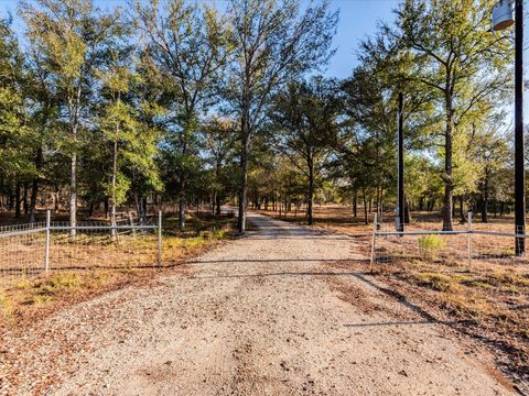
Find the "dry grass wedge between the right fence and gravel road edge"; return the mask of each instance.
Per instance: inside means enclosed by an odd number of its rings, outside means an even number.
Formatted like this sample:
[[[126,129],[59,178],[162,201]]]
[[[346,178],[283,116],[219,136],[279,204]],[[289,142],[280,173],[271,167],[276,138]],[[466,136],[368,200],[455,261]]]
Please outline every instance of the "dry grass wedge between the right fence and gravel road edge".
[[[494,345],[498,364],[529,383],[529,267],[414,261],[376,265],[375,276],[446,323]]]

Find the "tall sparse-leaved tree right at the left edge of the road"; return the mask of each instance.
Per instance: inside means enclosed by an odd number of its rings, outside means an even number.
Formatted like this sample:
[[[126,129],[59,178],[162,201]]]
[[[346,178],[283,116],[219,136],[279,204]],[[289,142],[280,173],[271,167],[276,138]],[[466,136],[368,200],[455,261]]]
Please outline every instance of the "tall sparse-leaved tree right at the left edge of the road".
[[[251,138],[274,91],[327,62],[337,12],[327,1],[301,12],[299,0],[230,0],[229,13],[238,45],[225,92],[240,124],[238,229],[245,232]]]

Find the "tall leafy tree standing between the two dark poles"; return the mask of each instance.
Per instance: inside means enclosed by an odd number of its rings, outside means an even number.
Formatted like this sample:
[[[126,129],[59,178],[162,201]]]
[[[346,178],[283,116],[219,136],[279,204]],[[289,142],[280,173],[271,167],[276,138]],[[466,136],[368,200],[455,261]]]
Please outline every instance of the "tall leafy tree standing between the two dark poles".
[[[406,0],[395,28],[385,34],[409,62],[404,78],[419,81],[444,117],[443,230],[452,230],[454,134],[476,112],[486,111],[493,96],[508,87],[511,45],[489,32],[494,0]],[[486,72],[485,72],[486,70]]]

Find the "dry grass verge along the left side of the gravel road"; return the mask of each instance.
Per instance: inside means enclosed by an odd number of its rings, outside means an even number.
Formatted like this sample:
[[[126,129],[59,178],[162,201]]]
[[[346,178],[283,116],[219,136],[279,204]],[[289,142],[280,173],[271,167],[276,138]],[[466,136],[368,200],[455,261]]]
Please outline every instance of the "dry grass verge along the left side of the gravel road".
[[[185,260],[235,234],[235,219],[227,216],[191,213],[185,231],[177,229],[174,216],[168,216],[163,224],[162,263],[176,273],[187,271],[181,265]],[[84,270],[54,270],[47,275],[19,277],[3,289],[0,287],[0,330],[2,326],[22,326],[106,290],[151,282],[159,274],[155,235],[127,238],[120,237],[119,246],[87,245],[75,251],[68,245],[52,246],[51,255],[64,258],[60,264]]]

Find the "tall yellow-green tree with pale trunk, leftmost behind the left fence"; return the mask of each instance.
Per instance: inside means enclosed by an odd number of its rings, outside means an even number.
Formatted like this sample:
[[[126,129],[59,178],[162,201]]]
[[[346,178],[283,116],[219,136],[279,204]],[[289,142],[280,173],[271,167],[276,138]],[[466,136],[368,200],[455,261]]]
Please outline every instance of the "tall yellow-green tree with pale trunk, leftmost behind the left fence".
[[[83,118],[94,95],[94,72],[101,62],[101,48],[115,37],[119,13],[101,14],[90,0],[39,0],[37,7],[22,3],[20,12],[31,45],[42,54],[43,67],[63,98],[61,114],[68,129],[63,146],[68,147],[71,160],[69,223],[75,227]]]

